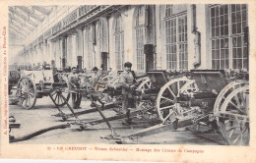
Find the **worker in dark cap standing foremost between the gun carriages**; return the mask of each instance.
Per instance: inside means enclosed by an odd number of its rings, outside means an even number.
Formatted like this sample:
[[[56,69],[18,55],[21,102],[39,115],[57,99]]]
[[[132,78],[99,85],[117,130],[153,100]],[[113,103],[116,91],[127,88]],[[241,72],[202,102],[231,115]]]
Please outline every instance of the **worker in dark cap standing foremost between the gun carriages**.
[[[134,108],[134,94],[135,89],[135,77],[131,71],[132,63],[126,62],[124,64],[124,72],[120,74],[119,84],[122,87],[122,113],[125,118],[122,124],[129,126],[132,124],[132,119],[130,118],[130,110]]]

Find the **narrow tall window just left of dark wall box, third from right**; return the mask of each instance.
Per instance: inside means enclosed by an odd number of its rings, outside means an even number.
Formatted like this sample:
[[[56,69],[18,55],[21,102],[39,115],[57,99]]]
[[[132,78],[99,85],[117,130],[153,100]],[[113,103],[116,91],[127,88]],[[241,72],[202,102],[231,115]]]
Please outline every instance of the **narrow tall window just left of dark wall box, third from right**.
[[[137,69],[144,70],[144,32],[145,32],[145,7],[140,6],[135,16],[135,36],[136,36],[136,58]]]

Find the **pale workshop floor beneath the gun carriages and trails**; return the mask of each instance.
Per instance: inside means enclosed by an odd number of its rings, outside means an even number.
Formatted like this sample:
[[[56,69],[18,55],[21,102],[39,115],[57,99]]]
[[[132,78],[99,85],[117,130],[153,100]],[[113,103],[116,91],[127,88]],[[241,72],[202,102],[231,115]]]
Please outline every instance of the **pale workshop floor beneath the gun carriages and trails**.
[[[13,99],[14,95],[10,95],[10,99]],[[76,109],[75,111],[83,111],[90,109],[90,101],[82,101],[82,109]],[[21,124],[20,129],[14,129],[11,132],[12,136],[20,137],[32,134],[38,130],[49,128],[56,125],[62,125],[71,123],[74,118],[63,122],[60,117],[54,117],[58,113],[53,102],[49,97],[38,98],[35,106],[31,110],[23,109],[19,105],[10,105],[10,116],[16,118],[16,123]],[[61,110],[67,114],[70,114],[67,106],[61,107]],[[112,109],[103,111],[104,115],[112,116],[116,115]],[[82,120],[93,120],[100,119],[97,112],[79,116]],[[131,133],[143,130],[150,125],[142,120],[134,120],[137,125],[132,127],[125,127],[121,124],[121,120],[111,121],[110,124],[114,128],[115,132],[120,136],[126,136]],[[25,141],[19,141],[14,143],[19,144],[67,144],[67,143],[114,143],[106,139],[100,138],[100,136],[108,136],[110,131],[105,123],[98,124],[96,126],[87,128],[82,131],[79,126],[71,125],[71,128],[59,129],[44,133],[39,136],[32,137]],[[141,144],[202,144],[202,145],[220,145],[225,144],[222,136],[218,134],[205,134],[196,136],[186,129],[179,131],[166,131],[153,136],[145,136],[132,141],[130,143],[141,143]]]

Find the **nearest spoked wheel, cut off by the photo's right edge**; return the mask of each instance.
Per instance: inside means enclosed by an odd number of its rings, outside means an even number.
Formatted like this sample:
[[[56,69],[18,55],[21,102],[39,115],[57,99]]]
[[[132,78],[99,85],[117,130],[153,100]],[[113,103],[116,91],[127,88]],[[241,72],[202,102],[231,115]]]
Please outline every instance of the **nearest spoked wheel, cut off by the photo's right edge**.
[[[234,89],[224,100],[219,112],[219,127],[229,145],[248,145],[249,85]]]

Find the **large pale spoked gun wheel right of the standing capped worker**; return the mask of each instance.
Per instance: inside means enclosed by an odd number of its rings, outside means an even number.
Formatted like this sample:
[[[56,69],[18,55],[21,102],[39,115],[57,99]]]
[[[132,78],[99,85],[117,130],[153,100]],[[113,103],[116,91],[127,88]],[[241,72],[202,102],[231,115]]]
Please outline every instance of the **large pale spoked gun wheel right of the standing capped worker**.
[[[157,109],[163,124],[173,123],[177,116],[185,116],[186,110],[178,102],[181,93],[196,90],[195,81],[185,77],[168,81],[160,88],[157,98]]]

